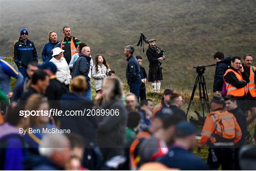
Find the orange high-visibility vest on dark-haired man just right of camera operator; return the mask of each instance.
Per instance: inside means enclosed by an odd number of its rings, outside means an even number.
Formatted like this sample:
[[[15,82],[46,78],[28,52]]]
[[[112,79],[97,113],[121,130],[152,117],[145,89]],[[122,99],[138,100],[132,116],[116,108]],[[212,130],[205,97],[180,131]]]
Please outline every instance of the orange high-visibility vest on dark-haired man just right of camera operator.
[[[239,81],[243,81],[243,77],[242,77],[241,72],[240,71],[236,72],[233,69],[228,69],[226,71],[226,73],[223,76],[224,81],[225,81],[224,77],[228,74],[228,72],[233,72],[236,75],[236,77],[238,78]],[[237,87],[229,84],[226,81],[225,81],[225,84],[226,84],[227,94],[232,94],[232,95],[234,95],[236,97],[241,97],[241,96],[244,96],[245,93],[246,93],[245,87],[237,88]]]

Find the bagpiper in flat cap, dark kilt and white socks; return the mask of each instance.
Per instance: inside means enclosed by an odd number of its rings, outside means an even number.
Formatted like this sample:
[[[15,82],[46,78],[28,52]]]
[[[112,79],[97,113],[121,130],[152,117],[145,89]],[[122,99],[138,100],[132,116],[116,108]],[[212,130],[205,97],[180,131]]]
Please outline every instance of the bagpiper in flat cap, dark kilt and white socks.
[[[159,50],[156,47],[155,39],[148,41],[148,49],[146,51],[147,60],[149,61],[148,81],[152,82],[153,91],[160,93],[162,75],[162,62],[165,56],[158,57]]]

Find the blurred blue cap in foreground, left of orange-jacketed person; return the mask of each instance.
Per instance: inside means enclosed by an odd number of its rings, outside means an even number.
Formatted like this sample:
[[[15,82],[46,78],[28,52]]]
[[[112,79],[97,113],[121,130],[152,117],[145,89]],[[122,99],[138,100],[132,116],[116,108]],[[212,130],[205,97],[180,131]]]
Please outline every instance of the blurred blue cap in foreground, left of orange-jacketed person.
[[[193,124],[187,121],[181,121],[176,125],[175,136],[186,137],[192,134],[196,134],[196,128]]]

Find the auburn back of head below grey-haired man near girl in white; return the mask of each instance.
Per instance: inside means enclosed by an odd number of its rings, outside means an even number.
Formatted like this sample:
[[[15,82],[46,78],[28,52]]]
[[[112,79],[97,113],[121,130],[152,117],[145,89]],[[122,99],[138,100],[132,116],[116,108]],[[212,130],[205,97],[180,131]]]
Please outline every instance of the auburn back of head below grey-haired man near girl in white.
[[[72,79],[71,90],[73,92],[84,92],[87,88],[86,78],[84,76],[77,76]]]

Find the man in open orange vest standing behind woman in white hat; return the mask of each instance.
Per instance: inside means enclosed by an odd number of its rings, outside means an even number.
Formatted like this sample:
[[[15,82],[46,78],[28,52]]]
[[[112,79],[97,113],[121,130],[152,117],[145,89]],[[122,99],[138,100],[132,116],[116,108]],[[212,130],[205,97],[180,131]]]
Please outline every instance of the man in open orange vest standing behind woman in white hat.
[[[71,35],[69,26],[64,26],[62,31],[65,37],[61,41],[61,49],[64,50],[64,58],[69,64],[71,57],[76,53],[76,48],[81,41]]]

